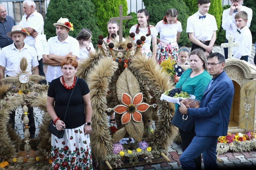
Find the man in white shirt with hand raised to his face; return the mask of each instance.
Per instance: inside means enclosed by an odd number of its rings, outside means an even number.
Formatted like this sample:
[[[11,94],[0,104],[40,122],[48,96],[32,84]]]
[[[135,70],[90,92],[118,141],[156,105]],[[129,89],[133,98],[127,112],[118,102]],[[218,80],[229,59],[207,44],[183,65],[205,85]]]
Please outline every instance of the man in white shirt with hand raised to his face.
[[[222,14],[222,28],[226,31],[226,41],[229,42],[229,36],[233,35],[234,40],[237,32],[235,15],[237,12],[245,11],[248,14],[247,26],[251,25],[252,21],[252,9],[241,5],[243,0],[230,0],[232,3],[229,9],[223,11]],[[228,59],[228,48],[224,48],[225,59]]]

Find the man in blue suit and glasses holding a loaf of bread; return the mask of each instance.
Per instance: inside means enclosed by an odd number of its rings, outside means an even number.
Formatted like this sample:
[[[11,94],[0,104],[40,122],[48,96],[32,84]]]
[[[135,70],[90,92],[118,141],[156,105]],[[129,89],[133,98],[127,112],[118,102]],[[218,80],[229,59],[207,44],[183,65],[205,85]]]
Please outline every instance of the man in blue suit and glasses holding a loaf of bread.
[[[184,170],[195,169],[194,158],[203,154],[205,169],[218,169],[216,163],[216,147],[219,136],[228,132],[229,116],[234,96],[232,80],[223,70],[225,57],[220,53],[212,53],[206,63],[209,74],[213,77],[200,101],[199,108],[190,108],[181,103],[181,114],[196,118],[195,133],[190,145],[180,156]]]

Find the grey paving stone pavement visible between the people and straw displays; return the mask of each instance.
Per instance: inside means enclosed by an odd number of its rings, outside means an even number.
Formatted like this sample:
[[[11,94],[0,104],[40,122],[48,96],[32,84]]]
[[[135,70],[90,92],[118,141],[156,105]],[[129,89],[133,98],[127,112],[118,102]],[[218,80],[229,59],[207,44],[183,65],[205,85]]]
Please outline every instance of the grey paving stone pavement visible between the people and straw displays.
[[[190,49],[190,47],[188,47]],[[224,50],[220,46],[214,46],[212,52],[219,52],[224,55]],[[248,62],[255,65],[253,63],[255,55],[255,47],[254,44],[252,46],[252,54],[248,58]],[[47,65],[44,65],[44,71],[46,73],[47,71]],[[21,115],[22,115],[22,108],[16,109],[16,116],[15,116],[15,129],[17,133],[23,137],[23,123],[21,121]],[[41,111],[39,108],[34,107],[34,118],[35,118],[35,124],[36,124],[36,134],[39,132],[38,125],[40,125],[42,120],[42,115],[44,114],[43,111]],[[119,170],[180,170],[182,169],[179,157],[183,153],[181,149],[181,145],[173,142],[168,147],[168,158],[170,159],[170,162],[162,162],[157,164],[149,164],[144,166],[136,166],[136,167],[129,167],[129,168],[118,168]],[[253,149],[251,151],[246,151],[243,153],[236,153],[236,152],[227,152],[222,155],[219,155],[219,158],[223,161],[223,163],[219,163],[217,161],[217,164],[219,166],[219,169],[256,169],[256,149]],[[93,165],[94,170],[98,170]],[[203,166],[203,160],[202,160],[202,170],[204,170]]]

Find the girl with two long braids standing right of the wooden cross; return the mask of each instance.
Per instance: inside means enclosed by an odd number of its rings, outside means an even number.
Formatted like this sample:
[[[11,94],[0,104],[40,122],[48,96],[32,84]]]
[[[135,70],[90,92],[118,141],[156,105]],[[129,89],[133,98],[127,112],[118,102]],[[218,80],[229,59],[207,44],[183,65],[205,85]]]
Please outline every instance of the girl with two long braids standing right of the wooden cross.
[[[138,24],[132,26],[130,29],[130,33],[135,33],[135,40],[141,39],[141,36],[146,37],[146,42],[142,46],[141,52],[145,54],[147,58],[152,56],[156,57],[156,48],[157,48],[157,30],[153,25],[149,24],[149,11],[146,9],[140,9],[137,12]],[[152,47],[153,53],[150,49],[151,46],[151,39],[152,39]]]

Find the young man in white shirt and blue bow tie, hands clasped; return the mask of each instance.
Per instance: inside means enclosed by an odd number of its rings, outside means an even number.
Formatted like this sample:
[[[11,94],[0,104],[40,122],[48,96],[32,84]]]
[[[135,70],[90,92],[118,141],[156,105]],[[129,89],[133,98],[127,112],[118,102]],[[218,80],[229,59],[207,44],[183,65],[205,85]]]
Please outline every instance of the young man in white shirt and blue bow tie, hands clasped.
[[[211,54],[218,30],[215,17],[207,13],[210,2],[210,0],[197,1],[198,11],[188,17],[186,29],[189,40],[193,43],[191,51],[201,48],[206,56]]]

